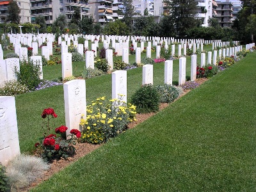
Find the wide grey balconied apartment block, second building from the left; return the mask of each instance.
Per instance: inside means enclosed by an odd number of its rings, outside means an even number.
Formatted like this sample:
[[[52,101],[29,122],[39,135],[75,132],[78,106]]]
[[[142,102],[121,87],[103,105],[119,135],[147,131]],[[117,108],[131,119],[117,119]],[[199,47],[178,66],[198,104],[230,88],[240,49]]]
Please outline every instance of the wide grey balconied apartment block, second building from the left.
[[[90,1],[89,1],[90,2]],[[67,20],[72,19],[75,8],[79,8],[82,17],[91,15],[91,6],[84,0],[30,0],[31,3],[31,22],[35,18],[43,16],[48,26],[60,15],[67,16]]]

